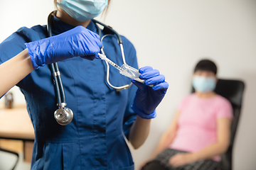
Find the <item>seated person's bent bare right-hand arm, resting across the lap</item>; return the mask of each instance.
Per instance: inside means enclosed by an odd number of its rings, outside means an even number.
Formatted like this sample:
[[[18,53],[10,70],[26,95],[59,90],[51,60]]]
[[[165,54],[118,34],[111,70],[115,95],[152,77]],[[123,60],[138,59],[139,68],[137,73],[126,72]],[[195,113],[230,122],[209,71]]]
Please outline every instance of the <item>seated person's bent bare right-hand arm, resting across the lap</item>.
[[[201,149],[198,152],[176,154],[171,157],[169,163],[172,166],[181,166],[191,162],[197,162],[202,159],[212,159],[215,156],[223,154],[230,143],[230,126],[231,120],[229,118],[218,118],[217,120],[217,142]]]

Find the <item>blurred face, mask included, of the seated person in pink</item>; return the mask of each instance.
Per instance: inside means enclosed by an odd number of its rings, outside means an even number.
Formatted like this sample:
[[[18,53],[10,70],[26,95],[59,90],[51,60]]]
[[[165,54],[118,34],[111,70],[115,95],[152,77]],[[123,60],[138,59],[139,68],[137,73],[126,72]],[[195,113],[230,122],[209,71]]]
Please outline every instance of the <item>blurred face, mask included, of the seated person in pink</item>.
[[[214,91],[216,86],[216,77],[213,72],[198,71],[193,76],[193,88],[201,93]]]

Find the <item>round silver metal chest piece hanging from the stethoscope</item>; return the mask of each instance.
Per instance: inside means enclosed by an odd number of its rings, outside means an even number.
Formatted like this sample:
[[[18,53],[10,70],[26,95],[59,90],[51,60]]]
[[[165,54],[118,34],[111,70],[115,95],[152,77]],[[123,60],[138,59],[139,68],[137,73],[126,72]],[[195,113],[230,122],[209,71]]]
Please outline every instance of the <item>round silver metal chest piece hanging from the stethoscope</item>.
[[[58,108],[54,112],[54,118],[60,125],[68,125],[73,120],[73,111],[70,108]]]

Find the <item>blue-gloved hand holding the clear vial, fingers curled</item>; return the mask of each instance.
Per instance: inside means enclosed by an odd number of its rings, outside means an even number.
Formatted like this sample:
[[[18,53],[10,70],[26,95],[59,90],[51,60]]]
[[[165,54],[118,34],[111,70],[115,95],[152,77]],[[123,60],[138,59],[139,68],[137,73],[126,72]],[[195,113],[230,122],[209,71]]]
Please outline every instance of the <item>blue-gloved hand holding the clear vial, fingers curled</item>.
[[[142,84],[132,79],[132,83],[138,87],[132,110],[141,118],[155,118],[155,109],[164,98],[169,84],[165,81],[164,75],[152,67],[142,67],[139,69],[139,73],[141,73],[139,79],[144,79],[145,82]]]

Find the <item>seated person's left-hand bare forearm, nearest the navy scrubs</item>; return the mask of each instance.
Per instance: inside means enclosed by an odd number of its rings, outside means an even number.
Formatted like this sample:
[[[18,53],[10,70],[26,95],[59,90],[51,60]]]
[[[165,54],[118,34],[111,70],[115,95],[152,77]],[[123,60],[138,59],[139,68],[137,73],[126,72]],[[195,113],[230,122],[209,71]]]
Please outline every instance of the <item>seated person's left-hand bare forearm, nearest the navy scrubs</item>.
[[[164,134],[161,136],[161,139],[159,140],[159,144],[157,145],[153,154],[151,154],[150,159],[154,159],[157,154],[164,151],[164,149],[169,147],[169,145],[171,145],[171,142],[173,142],[174,137],[176,135],[176,131],[178,129],[178,117],[180,113],[181,113],[180,111],[176,111],[176,114],[174,115],[174,118],[171,121],[171,125],[166,130],[166,132],[164,132]]]

